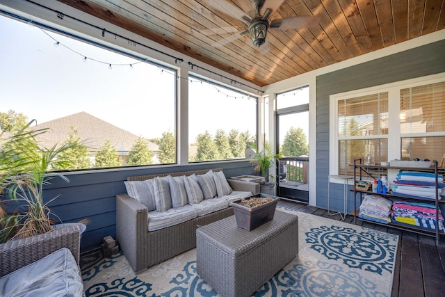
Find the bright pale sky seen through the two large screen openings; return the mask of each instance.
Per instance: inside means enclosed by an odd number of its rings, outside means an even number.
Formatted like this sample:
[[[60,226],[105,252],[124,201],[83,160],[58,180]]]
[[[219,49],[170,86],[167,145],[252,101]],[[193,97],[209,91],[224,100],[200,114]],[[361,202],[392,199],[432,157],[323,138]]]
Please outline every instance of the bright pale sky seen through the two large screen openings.
[[[175,131],[174,72],[3,15],[0,36],[0,112],[12,109],[40,124],[85,111],[137,136]],[[205,129],[254,133],[253,99],[192,84],[190,143]]]

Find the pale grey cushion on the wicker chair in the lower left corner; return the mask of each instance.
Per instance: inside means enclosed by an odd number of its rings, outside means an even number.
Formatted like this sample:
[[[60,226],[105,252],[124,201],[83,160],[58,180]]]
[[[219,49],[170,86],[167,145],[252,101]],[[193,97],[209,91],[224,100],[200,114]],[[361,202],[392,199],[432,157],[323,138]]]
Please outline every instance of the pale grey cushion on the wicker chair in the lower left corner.
[[[0,296],[83,296],[79,266],[61,248],[0,278]]]

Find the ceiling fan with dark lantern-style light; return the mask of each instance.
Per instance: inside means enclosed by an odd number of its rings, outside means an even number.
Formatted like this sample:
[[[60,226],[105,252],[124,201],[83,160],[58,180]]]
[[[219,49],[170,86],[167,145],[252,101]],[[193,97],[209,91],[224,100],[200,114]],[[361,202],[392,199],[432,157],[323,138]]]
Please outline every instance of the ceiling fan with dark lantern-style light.
[[[261,9],[264,8],[266,0],[252,0],[253,12],[250,12],[253,17],[248,17],[246,13],[230,2],[221,2],[218,0],[211,1],[211,6],[219,6],[222,10],[226,10],[227,13],[234,15],[234,17],[241,19],[248,25],[248,29],[239,33],[239,35],[245,35],[250,33],[250,38],[255,47],[261,47],[266,42],[266,35],[269,29],[300,29],[303,27],[314,26],[315,17],[287,17],[284,19],[274,19],[269,22],[268,17],[284,2],[284,0],[269,0],[266,4],[266,10],[261,15]],[[233,39],[234,36],[232,35]]]

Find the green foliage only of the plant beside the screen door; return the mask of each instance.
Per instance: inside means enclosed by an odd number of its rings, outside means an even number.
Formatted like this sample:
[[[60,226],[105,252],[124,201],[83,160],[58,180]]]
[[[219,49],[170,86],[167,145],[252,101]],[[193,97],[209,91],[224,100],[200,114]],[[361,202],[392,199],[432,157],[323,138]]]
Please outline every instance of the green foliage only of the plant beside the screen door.
[[[273,166],[275,160],[282,159],[282,154],[274,154],[273,147],[267,141],[264,142],[263,150],[259,151],[257,145],[253,145],[252,148],[255,154],[250,158],[250,164],[254,166],[254,172],[259,173],[263,177],[266,184],[269,179],[275,179],[275,175],[269,174],[269,168]]]

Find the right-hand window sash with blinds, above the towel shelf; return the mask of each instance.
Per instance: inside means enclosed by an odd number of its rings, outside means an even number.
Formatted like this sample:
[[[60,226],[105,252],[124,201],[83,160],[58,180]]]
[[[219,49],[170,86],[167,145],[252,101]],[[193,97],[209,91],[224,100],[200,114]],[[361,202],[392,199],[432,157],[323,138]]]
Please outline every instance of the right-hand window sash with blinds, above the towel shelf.
[[[445,82],[401,90],[401,159],[444,159]],[[419,137],[421,134],[421,137]]]

